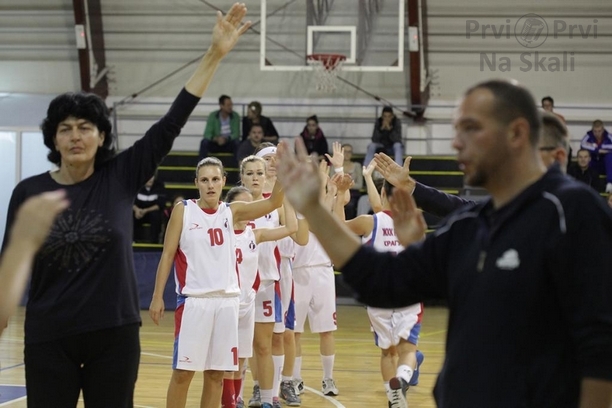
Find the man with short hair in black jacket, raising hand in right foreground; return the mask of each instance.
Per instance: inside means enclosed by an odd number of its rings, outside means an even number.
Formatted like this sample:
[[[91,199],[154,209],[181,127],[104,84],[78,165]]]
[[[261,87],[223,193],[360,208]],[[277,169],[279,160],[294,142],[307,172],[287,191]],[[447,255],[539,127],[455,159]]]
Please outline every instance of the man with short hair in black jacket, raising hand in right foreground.
[[[612,403],[612,212],[556,166],[547,171],[540,127],[533,96],[515,83],[469,89],[453,147],[466,183],[491,198],[398,255],[362,247],[319,203],[321,182],[299,141],[297,158],[284,144],[278,150],[286,197],[360,301],[396,308],[448,300],[439,407]],[[396,194],[399,238],[420,213],[408,192]]]

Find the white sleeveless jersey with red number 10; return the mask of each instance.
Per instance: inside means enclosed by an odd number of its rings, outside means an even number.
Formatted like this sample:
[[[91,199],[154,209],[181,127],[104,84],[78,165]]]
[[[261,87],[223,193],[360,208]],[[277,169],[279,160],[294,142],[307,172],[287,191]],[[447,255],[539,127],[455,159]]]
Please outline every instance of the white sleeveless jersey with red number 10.
[[[184,296],[238,296],[236,238],[226,203],[212,212],[185,200],[183,231],[174,257],[176,292]]]

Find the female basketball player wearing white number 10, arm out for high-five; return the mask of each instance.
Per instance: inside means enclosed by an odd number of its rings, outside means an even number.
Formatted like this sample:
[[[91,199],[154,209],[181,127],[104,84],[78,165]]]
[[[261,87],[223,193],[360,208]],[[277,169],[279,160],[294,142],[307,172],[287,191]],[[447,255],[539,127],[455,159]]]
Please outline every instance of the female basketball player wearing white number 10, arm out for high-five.
[[[204,371],[201,407],[221,404],[223,372],[238,369],[240,287],[233,225],[268,214],[282,204],[278,186],[269,200],[222,203],[219,198],[225,180],[219,159],[202,159],[195,179],[200,198],[177,204],[166,230],[149,314],[159,324],[165,309],[163,292],[174,262],[178,300],[167,408],[185,407],[196,371]]]

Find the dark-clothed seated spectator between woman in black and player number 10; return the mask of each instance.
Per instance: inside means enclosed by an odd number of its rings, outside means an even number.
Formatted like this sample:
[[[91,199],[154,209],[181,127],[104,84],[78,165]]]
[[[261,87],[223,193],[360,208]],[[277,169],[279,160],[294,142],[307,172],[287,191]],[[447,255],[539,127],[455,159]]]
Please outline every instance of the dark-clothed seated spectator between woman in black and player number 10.
[[[138,191],[132,211],[134,213],[134,241],[160,243],[162,214],[166,207],[164,184],[153,176]]]

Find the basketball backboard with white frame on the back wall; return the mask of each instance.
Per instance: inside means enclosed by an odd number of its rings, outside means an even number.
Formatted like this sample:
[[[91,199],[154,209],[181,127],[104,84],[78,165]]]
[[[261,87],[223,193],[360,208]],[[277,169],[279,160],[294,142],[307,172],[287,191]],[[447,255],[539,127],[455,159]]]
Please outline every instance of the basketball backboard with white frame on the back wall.
[[[262,71],[310,71],[342,54],[348,72],[404,70],[405,0],[261,0]]]

